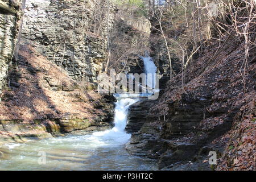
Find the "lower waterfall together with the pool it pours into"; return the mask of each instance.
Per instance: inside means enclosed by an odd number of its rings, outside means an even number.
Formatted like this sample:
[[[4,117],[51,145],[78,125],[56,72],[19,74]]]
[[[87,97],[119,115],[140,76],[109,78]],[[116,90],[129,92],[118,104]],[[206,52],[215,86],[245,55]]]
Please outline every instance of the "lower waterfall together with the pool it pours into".
[[[115,126],[111,130],[4,144],[10,154],[9,159],[0,161],[0,170],[157,170],[155,160],[125,150],[130,139],[125,132],[126,114],[136,101],[117,98]]]

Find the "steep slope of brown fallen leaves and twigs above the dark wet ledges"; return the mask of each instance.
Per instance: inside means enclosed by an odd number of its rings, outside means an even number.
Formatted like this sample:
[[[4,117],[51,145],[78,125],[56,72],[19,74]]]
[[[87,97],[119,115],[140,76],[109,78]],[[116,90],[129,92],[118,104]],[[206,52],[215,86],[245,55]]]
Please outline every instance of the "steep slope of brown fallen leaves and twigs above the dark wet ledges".
[[[187,60],[189,63],[184,65],[184,73],[178,73],[168,82],[151,113],[163,118],[171,103],[182,104],[184,98],[209,100],[209,106],[205,107],[206,117],[202,118],[195,131],[203,136],[226,122],[232,123],[228,133],[213,141],[226,145],[224,154],[218,159],[217,169],[254,170],[255,2],[220,2],[217,16],[208,22],[209,38],[197,39],[203,40],[203,44],[199,43],[198,58]],[[181,24],[184,23],[186,21]],[[175,26],[179,27],[179,23]],[[184,32],[181,37],[186,35]],[[192,133],[187,136],[189,141],[192,138],[197,137]]]

